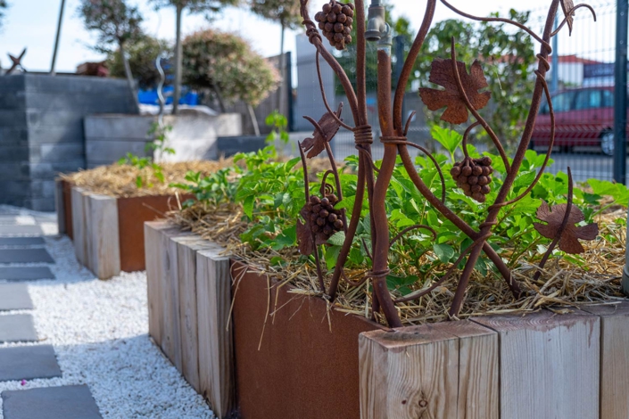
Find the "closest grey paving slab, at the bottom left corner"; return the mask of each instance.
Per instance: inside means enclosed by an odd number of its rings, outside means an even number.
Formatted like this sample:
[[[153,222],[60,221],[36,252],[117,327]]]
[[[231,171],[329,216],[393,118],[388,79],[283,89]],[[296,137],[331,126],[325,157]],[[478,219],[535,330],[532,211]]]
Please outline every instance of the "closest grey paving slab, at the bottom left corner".
[[[7,390],[4,419],[102,419],[87,385]]]

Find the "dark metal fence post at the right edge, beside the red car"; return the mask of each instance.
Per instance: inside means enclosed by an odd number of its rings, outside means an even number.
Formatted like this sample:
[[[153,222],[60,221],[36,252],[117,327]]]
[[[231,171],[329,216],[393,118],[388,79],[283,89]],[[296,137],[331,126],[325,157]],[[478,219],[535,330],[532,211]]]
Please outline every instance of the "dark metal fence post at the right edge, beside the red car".
[[[627,172],[627,14],[629,2],[617,0],[614,101],[614,180],[625,185]]]

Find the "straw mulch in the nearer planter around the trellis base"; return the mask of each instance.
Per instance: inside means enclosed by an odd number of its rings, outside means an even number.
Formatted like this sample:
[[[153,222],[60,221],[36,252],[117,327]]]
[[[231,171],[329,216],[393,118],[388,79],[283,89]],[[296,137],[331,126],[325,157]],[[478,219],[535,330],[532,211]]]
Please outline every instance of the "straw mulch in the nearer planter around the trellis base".
[[[226,248],[226,253],[243,259],[277,282],[292,285],[291,292],[323,297],[318,290],[315,267],[310,263],[303,263],[296,249],[251,251],[240,242],[239,234],[244,232],[247,225],[242,221],[243,213],[238,206],[225,204],[219,208],[211,208],[197,204],[181,212],[172,212],[170,217],[180,226],[218,242]],[[569,264],[566,259],[550,259],[540,280],[534,282],[534,265],[520,260],[519,266],[513,270],[513,275],[524,291],[524,297],[519,300],[513,298],[500,276],[492,273],[482,276],[475,272],[459,318],[525,313],[541,308],[562,312],[583,304],[614,304],[624,300],[620,292],[620,280],[625,265],[626,230],[625,226],[615,224],[618,218],[626,218],[625,209],[616,208],[597,218],[600,236],[594,242],[583,242],[586,248],[586,252],[581,255],[585,260],[583,267]],[[606,236],[610,237],[609,241]],[[283,267],[270,266],[270,259],[277,256],[286,261]],[[438,274],[442,274],[446,268]],[[365,272],[348,271],[346,274],[356,281]],[[427,278],[423,286],[427,288],[436,279],[437,275]],[[425,297],[398,304],[402,323],[419,325],[447,319],[457,281],[458,275],[452,275],[451,280]],[[416,288],[421,287],[418,284]],[[334,302],[337,310],[367,317],[371,316],[370,305],[368,283],[358,288],[342,283]],[[377,315],[377,320],[385,324],[382,316]]]

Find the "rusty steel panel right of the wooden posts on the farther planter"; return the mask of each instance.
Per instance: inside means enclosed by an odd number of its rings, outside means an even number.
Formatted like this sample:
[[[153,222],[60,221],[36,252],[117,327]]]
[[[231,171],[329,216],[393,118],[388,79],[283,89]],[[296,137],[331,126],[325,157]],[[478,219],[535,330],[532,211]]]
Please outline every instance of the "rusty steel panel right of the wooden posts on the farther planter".
[[[194,198],[179,196],[180,201]],[[124,272],[143,271],[145,265],[145,221],[164,218],[164,213],[177,208],[174,195],[118,198],[120,234],[120,269]]]

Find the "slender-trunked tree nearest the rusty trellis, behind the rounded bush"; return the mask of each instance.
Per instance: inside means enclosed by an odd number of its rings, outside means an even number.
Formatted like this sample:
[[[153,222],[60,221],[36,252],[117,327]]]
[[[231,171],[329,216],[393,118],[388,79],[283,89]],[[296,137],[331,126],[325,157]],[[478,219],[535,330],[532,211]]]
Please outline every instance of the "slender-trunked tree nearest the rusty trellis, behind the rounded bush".
[[[264,19],[276,21],[281,27],[281,37],[279,42],[279,70],[282,84],[277,89],[277,103],[279,103],[280,113],[286,113],[282,109],[282,95],[284,80],[286,79],[286,62],[284,58],[284,34],[286,29],[297,29],[301,25],[302,16],[300,14],[300,3],[295,0],[250,0],[251,10]]]

